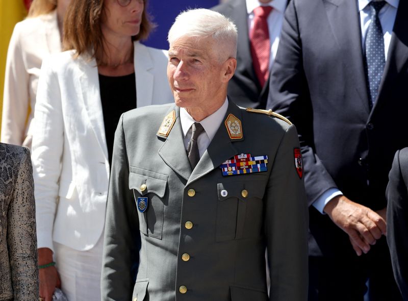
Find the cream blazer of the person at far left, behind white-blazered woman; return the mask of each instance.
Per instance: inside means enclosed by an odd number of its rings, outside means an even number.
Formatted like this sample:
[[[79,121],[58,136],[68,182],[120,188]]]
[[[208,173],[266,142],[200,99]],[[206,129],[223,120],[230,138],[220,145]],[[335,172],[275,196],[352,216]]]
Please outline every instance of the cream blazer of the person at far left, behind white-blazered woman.
[[[7,53],[1,141],[31,146],[32,119],[41,62],[61,52],[57,12],[18,22]],[[27,119],[27,115],[28,119]]]

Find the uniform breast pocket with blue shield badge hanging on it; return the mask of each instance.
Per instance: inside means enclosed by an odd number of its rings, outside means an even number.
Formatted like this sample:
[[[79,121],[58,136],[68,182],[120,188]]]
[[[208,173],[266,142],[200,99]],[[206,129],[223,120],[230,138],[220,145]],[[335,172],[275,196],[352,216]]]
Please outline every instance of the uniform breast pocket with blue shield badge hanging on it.
[[[140,232],[158,239],[163,233],[167,179],[166,174],[130,167],[129,188],[138,207]]]

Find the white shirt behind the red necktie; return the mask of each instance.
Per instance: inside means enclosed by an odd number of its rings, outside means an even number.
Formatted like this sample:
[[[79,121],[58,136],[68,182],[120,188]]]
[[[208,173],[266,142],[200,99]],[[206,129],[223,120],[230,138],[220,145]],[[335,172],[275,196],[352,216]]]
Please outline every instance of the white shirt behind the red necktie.
[[[272,67],[276,57],[279,38],[281,36],[282,24],[284,22],[284,13],[288,0],[273,0],[267,4],[258,0],[246,0],[246,10],[248,12],[248,33],[253,27],[253,10],[259,6],[271,6],[273,9],[268,16],[269,41],[271,42],[271,54],[269,58],[269,69]]]

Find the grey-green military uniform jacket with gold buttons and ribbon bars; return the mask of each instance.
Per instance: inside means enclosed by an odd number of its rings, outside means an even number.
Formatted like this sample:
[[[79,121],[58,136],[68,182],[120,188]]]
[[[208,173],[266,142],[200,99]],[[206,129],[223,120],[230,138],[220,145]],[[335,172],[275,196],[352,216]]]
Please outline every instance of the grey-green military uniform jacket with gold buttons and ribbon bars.
[[[171,131],[158,135],[172,111]],[[221,123],[193,171],[179,108],[122,115],[108,194],[103,300],[307,299],[308,215],[295,168],[296,129],[232,102],[229,114],[242,122],[243,137],[230,138]],[[222,175],[224,161],[248,153],[268,156],[267,171]],[[148,198],[143,213],[138,197]]]

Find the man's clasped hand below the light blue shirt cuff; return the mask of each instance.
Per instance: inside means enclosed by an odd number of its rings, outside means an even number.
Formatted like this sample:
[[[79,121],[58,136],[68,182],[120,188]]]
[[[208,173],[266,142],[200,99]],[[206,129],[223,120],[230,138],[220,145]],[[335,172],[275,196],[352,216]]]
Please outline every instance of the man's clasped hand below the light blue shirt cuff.
[[[360,256],[370,250],[370,245],[387,235],[387,223],[378,213],[344,195],[334,197],[324,207],[324,212],[350,238],[355,253]]]

